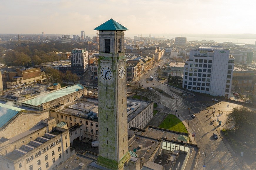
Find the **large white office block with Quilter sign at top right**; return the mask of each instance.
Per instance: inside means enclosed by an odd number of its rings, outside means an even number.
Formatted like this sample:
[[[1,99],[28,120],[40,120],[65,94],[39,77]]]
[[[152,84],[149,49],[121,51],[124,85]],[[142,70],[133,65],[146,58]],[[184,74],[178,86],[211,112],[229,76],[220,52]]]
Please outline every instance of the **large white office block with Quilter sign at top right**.
[[[229,97],[234,68],[234,58],[229,51],[207,47],[190,50],[184,66],[183,88]]]

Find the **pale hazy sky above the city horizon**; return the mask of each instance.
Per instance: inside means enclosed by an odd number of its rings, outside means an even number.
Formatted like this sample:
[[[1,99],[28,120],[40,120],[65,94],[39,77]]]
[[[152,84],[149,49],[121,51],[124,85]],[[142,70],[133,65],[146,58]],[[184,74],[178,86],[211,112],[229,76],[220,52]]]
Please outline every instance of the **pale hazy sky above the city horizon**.
[[[0,33],[96,34],[112,18],[145,33],[256,33],[255,0],[1,0]]]

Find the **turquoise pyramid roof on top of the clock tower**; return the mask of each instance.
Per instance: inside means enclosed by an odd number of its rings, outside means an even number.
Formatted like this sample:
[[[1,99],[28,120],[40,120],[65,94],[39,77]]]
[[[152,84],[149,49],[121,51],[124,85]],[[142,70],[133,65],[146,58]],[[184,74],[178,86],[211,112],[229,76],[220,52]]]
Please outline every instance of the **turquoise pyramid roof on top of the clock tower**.
[[[113,19],[110,19],[106,21],[105,23],[101,24],[100,26],[94,28],[93,30],[98,30],[98,31],[126,31],[128,30],[124,26],[122,26],[120,23],[116,22]]]

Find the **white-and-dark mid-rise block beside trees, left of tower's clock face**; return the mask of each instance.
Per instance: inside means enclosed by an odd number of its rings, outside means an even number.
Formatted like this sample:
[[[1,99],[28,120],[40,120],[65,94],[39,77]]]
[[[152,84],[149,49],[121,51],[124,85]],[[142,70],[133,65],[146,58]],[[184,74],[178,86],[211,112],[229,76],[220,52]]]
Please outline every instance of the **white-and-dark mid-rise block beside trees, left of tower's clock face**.
[[[72,73],[78,75],[88,70],[88,51],[86,48],[75,48],[71,53]]]

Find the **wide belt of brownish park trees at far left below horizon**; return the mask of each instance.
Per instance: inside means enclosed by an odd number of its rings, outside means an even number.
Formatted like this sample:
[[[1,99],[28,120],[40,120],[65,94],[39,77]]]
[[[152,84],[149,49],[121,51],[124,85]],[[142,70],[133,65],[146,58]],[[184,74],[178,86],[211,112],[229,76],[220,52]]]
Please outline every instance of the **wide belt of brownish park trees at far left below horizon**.
[[[65,60],[66,56],[59,56],[55,53],[46,54],[53,51],[71,52],[73,48],[84,48],[83,43],[38,43],[31,41],[10,41],[0,46],[0,63],[9,66],[34,66],[40,63]],[[10,49],[13,51],[4,52]]]

